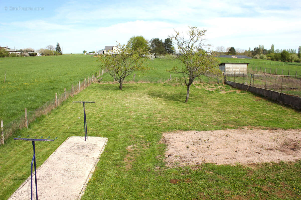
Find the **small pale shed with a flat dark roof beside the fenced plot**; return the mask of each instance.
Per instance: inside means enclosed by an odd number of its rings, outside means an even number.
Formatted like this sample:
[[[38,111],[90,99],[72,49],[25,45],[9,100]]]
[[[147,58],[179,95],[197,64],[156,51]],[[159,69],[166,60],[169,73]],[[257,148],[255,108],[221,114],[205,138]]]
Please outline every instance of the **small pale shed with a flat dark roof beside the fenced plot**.
[[[219,64],[219,69],[228,75],[243,75],[247,74],[249,63],[231,63],[231,62],[224,62]]]

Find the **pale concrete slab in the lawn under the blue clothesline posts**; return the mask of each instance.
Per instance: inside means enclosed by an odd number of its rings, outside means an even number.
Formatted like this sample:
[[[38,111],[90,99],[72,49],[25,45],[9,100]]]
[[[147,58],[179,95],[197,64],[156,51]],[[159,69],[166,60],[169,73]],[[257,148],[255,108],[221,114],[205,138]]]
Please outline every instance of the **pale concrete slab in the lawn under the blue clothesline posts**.
[[[106,143],[107,138],[101,137],[88,137],[86,142],[84,137],[67,138],[37,169],[38,199],[80,199]],[[26,199],[30,199],[30,176],[8,200]]]

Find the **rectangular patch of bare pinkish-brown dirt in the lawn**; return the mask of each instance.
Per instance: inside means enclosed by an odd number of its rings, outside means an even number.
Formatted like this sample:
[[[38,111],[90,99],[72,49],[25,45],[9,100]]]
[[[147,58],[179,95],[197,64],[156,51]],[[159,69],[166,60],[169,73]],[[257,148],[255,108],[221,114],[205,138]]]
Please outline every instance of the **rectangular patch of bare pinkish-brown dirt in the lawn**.
[[[301,130],[178,131],[164,133],[169,167],[296,161],[301,158]]]

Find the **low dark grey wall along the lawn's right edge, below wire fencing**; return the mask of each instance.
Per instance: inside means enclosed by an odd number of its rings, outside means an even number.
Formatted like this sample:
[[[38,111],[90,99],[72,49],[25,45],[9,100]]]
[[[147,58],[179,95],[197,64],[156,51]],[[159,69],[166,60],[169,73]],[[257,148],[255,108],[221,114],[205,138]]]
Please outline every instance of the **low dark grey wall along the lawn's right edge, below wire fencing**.
[[[241,83],[236,83],[232,81],[226,81],[228,85],[231,85],[233,88],[238,88],[240,90],[248,90],[249,92],[262,95],[268,99],[278,101],[290,106],[293,106],[296,109],[301,109],[301,97],[296,97],[289,94],[283,94],[277,91],[267,90],[264,88],[256,88],[249,85],[244,85]]]

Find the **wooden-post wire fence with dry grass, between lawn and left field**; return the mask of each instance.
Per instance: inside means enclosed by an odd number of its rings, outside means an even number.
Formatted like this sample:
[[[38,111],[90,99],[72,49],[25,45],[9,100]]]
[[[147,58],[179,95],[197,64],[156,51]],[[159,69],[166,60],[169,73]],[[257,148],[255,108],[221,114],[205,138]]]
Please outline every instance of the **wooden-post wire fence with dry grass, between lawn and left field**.
[[[99,71],[99,76],[101,76],[103,73],[105,73],[105,70]],[[27,125],[34,121],[36,118],[40,117],[41,115],[46,115],[51,110],[57,108],[61,103],[66,101],[69,97],[73,97],[73,95],[79,93],[89,85],[91,85],[92,82],[98,81],[98,72],[95,74],[92,74],[92,76],[88,76],[88,78],[85,78],[82,82],[78,82],[76,85],[71,85],[70,90],[64,89],[64,92],[62,94],[54,94],[54,98],[46,103],[44,103],[41,107],[35,110],[31,110],[25,113],[27,115],[24,115],[19,117],[18,119],[8,122],[5,127],[2,128],[4,132],[4,136],[1,139],[8,139],[11,137],[17,130],[22,129],[24,127],[27,127]],[[4,119],[5,120],[5,119]],[[1,144],[0,144],[1,145]]]

